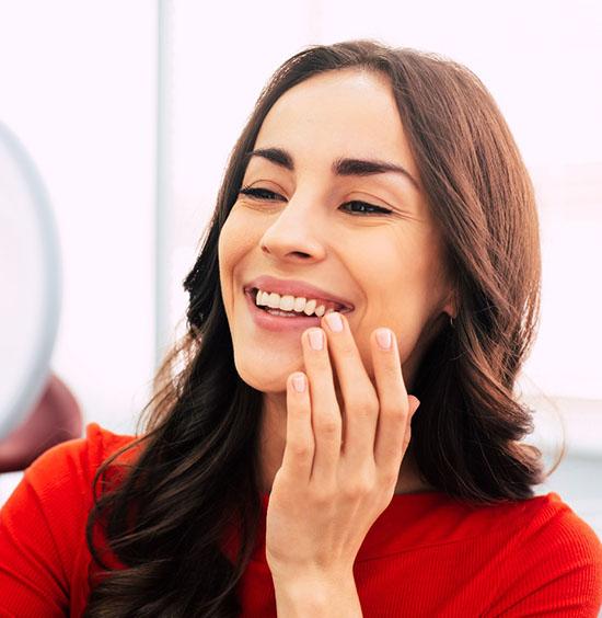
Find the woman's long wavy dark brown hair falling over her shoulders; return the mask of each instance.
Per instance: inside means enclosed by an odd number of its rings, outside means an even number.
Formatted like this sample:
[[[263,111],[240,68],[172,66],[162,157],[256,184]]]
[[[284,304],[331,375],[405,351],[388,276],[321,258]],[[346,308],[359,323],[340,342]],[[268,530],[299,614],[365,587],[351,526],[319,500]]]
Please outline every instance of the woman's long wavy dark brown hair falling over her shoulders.
[[[374,41],[310,46],[285,61],[262,91],[231,152],[198,259],[184,281],[187,331],[165,356],[136,439],[94,478],[86,539],[89,617],[231,617],[255,547],[262,392],[238,375],[218,270],[218,238],[238,198],[245,154],[266,114],[290,88],[325,71],[355,68],[389,78],[420,180],[443,232],[458,298],[422,357],[413,394],[413,453],[422,480],[477,505],[525,500],[546,474],[522,443],[532,411],[514,381],[533,343],[541,255],[534,192],[491,95],[468,69],[437,55]],[[139,437],[141,436],[141,437]],[[101,477],[137,447],[119,482]],[[240,543],[222,541],[234,525]],[[105,538],[115,569],[101,558]]]

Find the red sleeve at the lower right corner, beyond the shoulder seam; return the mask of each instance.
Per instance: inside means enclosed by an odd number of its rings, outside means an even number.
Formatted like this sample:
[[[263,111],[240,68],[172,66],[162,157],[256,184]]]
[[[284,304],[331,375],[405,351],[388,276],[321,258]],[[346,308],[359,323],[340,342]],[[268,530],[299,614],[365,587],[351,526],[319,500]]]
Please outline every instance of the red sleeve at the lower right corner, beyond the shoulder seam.
[[[602,607],[602,545],[566,504],[552,499],[521,534],[521,551],[507,565],[513,577],[487,616],[597,618]],[[559,497],[558,497],[559,500]]]

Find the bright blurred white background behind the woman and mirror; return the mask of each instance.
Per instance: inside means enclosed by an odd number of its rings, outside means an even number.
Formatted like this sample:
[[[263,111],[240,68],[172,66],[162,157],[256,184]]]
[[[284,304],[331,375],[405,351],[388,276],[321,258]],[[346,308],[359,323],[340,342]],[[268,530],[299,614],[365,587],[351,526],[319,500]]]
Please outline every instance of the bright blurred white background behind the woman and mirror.
[[[264,83],[304,46],[346,38],[461,61],[505,114],[542,233],[540,333],[519,389],[536,410],[526,442],[549,464],[567,445],[537,493],[557,491],[602,537],[598,0],[0,0],[0,122],[35,161],[60,239],[51,370],[82,427],[134,432],[183,333],[182,282]],[[20,474],[0,473],[0,504]]]

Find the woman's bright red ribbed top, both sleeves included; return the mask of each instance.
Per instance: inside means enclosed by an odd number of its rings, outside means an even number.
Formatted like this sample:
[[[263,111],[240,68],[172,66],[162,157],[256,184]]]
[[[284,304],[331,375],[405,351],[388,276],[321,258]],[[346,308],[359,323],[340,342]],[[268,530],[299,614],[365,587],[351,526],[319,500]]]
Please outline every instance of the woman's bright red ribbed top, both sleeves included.
[[[96,423],[36,459],[0,512],[0,616],[81,616],[85,520],[99,465],[131,436]],[[276,616],[265,514],[241,582],[246,617]],[[227,548],[224,548],[227,549]],[[443,493],[394,495],[354,566],[363,616],[582,616],[602,606],[602,546],[556,493],[470,507]]]

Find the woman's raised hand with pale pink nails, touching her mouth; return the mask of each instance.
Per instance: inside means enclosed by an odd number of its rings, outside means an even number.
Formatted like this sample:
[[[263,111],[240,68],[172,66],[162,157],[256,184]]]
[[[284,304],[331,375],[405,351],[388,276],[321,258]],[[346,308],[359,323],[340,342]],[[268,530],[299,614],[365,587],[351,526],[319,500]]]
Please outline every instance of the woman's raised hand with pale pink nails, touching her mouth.
[[[303,332],[304,391],[293,387],[303,374],[287,380],[287,443],[266,522],[266,558],[275,581],[335,581],[352,574],[368,530],[393,497],[419,405],[406,392],[394,333],[389,350],[379,346],[378,330],[371,334],[374,390],[349,323],[337,316],[341,332],[327,325],[327,317],[324,329]],[[310,345],[312,332],[322,333],[322,350]]]

